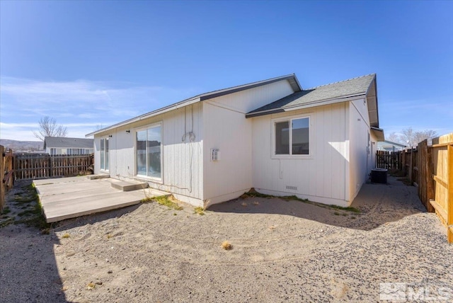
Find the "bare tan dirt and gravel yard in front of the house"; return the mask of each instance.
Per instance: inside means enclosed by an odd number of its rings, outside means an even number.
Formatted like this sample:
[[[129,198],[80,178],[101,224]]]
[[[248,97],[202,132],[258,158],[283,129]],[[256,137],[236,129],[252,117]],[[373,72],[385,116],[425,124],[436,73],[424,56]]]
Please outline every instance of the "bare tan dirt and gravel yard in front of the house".
[[[0,302],[378,302],[380,282],[453,287],[453,245],[415,190],[391,177],[365,184],[359,214],[246,198],[205,215],[149,202],[49,234],[9,224]]]

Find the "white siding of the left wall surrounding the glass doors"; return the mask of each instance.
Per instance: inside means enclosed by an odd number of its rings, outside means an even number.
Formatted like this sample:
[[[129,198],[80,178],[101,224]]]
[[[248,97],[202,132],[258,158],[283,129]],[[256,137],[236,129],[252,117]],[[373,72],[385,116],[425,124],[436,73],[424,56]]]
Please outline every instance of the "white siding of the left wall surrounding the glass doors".
[[[162,124],[162,181],[149,181],[151,188],[165,190],[177,195],[179,200],[193,205],[202,205],[202,105],[195,103],[162,115],[117,127],[95,137],[95,173],[100,169],[101,138],[109,138],[110,176],[120,180],[134,179],[136,131],[161,122]],[[129,130],[130,132],[126,132]],[[194,142],[185,132],[195,134]]]

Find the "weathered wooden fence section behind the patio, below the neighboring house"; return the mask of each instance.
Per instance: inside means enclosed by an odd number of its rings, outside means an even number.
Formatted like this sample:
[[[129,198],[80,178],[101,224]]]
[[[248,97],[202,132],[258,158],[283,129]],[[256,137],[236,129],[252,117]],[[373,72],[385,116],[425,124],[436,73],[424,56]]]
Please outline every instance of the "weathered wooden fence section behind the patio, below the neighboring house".
[[[69,177],[93,169],[93,155],[14,154],[16,180]]]

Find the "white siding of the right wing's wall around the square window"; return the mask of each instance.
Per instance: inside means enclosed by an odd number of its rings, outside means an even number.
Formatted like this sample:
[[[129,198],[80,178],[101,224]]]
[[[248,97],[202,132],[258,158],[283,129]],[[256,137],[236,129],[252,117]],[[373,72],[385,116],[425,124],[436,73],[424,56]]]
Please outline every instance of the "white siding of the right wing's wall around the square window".
[[[273,159],[275,118],[309,115],[311,156]],[[253,187],[273,195],[297,195],[316,202],[346,205],[348,178],[348,104],[265,115],[253,119]],[[297,188],[288,190],[287,186]]]

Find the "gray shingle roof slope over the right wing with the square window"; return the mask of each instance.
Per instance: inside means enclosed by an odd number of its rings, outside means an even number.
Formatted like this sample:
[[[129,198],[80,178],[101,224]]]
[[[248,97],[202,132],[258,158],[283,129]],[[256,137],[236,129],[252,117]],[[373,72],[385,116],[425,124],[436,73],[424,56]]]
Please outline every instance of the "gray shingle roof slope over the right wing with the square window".
[[[247,113],[246,117],[260,115],[258,113],[261,112],[274,113],[275,111],[281,111],[299,105],[319,103],[321,101],[336,98],[365,95],[375,77],[376,74],[369,74],[333,84],[326,84],[323,86],[297,91],[296,93],[292,93],[291,95],[281,98],[273,103],[264,105],[256,110],[252,110],[250,113]]]

